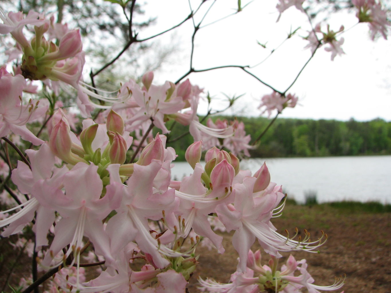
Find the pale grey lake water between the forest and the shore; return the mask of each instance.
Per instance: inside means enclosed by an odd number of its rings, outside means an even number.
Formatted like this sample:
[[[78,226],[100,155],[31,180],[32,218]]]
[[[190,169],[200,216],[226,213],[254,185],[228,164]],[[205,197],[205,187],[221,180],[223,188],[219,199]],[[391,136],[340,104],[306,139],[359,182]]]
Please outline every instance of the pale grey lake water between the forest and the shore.
[[[270,158],[240,162],[256,172],[266,161],[271,181],[282,185],[289,198],[304,202],[316,193],[318,202],[355,200],[391,203],[391,155],[359,157]],[[192,173],[187,162],[174,162],[173,178]]]

